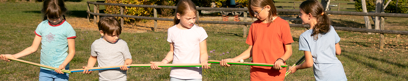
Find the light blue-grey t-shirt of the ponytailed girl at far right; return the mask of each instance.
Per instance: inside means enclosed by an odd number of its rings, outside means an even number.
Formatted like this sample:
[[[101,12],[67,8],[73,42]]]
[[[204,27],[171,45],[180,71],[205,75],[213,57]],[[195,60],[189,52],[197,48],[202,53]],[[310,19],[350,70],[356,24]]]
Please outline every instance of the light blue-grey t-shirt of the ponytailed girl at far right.
[[[299,50],[310,51],[313,57],[313,72],[316,81],[347,81],[343,65],[336,57],[335,44],[340,37],[330,26],[326,34],[319,34],[319,39],[314,40],[313,30],[306,30],[299,37]]]

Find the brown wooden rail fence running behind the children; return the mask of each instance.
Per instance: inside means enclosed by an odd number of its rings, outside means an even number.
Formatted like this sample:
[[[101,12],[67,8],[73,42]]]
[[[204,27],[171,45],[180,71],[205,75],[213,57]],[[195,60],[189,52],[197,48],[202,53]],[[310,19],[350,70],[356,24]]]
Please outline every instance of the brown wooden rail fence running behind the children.
[[[154,20],[154,29],[153,31],[157,30],[157,20],[161,21],[173,21],[173,19],[169,18],[158,18],[156,8],[162,9],[176,9],[176,6],[160,6],[160,5],[136,5],[136,4],[115,4],[115,3],[104,3],[104,2],[86,2],[88,5],[88,20],[90,21],[90,15],[93,15],[93,23],[96,25],[99,16],[106,16],[111,15],[114,17],[121,17],[120,23],[123,27],[123,17],[129,18],[137,18],[137,19],[151,19]],[[89,4],[93,4],[93,12],[90,11]],[[110,5],[110,6],[120,6],[120,14],[106,14],[106,13],[99,13],[99,5]],[[144,17],[144,16],[134,16],[134,15],[123,15],[123,6],[130,6],[130,7],[147,7],[147,8],[154,8],[154,17]],[[210,7],[196,7],[197,10],[215,10],[215,11],[248,11],[246,8],[210,8]],[[198,11],[197,11],[198,12]],[[299,13],[299,9],[277,9],[277,12],[288,12],[288,13]],[[346,11],[326,11],[327,14],[337,14],[337,15],[359,15],[359,16],[379,16],[379,17],[408,17],[408,14],[401,14],[401,13],[363,13],[363,12],[346,12]],[[248,26],[252,24],[252,22],[245,22],[247,17],[247,13],[244,14],[244,21],[237,22],[237,21],[200,21],[200,23],[214,23],[214,24],[235,24],[235,25],[243,25],[243,37],[246,37]],[[197,19],[199,19],[199,15],[197,13]],[[290,27],[297,27],[297,28],[310,28],[308,25],[302,24],[289,24]],[[335,27],[335,30],[342,30],[342,31],[352,31],[352,32],[373,32],[373,33],[380,33],[380,34],[408,34],[408,31],[397,31],[397,30],[375,30],[375,29],[363,29],[363,28],[346,28],[346,27]],[[381,25],[380,28],[384,28]],[[384,41],[384,38],[380,38],[380,48],[381,42]]]

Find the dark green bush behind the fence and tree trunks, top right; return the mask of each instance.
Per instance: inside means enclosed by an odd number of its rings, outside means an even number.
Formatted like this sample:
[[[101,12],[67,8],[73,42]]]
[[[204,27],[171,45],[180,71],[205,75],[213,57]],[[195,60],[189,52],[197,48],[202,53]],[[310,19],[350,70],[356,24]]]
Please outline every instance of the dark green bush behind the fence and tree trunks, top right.
[[[358,12],[362,12],[363,9],[361,8],[361,0],[355,0],[355,8],[356,11]],[[384,4],[387,2],[388,0],[385,0]],[[366,6],[367,6],[367,11],[375,11],[375,2],[376,0],[366,0]],[[386,7],[386,9],[384,9],[385,13],[406,13],[408,11],[408,0],[399,0],[398,2],[398,11],[395,11],[395,3],[397,1],[396,0],[392,0],[388,6]]]

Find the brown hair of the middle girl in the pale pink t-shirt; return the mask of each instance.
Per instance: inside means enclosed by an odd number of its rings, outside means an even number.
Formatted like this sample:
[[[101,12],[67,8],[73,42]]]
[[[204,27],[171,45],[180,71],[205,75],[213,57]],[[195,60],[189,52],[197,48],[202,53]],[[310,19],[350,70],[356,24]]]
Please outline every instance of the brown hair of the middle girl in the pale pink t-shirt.
[[[195,9],[195,4],[191,0],[180,0],[177,3],[177,9],[175,11],[175,16],[173,19],[173,25],[176,25],[180,23],[180,19],[177,19],[177,13],[180,14],[180,16],[186,14],[188,11],[193,11],[194,14],[197,14],[197,9]],[[196,18],[197,19],[197,18]],[[198,23],[198,20],[195,20],[195,23]]]

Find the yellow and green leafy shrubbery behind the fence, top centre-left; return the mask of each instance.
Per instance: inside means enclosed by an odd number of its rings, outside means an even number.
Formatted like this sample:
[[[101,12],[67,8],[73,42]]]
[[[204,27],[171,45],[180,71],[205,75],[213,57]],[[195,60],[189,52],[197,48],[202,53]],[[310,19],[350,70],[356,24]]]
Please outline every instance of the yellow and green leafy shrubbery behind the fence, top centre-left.
[[[165,5],[165,6],[176,6],[179,0],[106,0],[106,3],[123,3],[123,4],[144,4],[144,5]],[[200,7],[210,7],[211,2],[215,2],[217,7],[222,6],[222,2],[229,2],[229,0],[194,0],[193,1],[196,6]],[[246,3],[248,0],[235,0],[235,2],[243,3],[243,6],[246,7]],[[224,3],[224,5],[225,5]],[[105,13],[109,14],[120,14],[120,7],[119,6],[106,6]],[[153,17],[153,8],[140,8],[140,7],[124,7],[124,15],[135,15],[135,16],[145,16],[145,17]],[[174,9],[157,9],[157,14],[159,16],[171,16],[174,15]],[[134,19],[134,18],[124,18],[124,21],[134,22],[139,21],[142,19]]]

